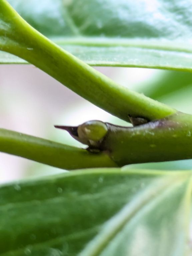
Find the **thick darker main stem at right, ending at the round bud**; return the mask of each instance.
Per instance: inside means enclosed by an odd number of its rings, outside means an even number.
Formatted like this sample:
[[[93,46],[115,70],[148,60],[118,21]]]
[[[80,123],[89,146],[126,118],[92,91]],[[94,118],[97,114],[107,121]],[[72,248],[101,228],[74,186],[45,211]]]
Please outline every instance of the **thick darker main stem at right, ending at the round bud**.
[[[192,158],[192,115],[176,113],[135,127],[108,125],[100,149],[119,166]]]

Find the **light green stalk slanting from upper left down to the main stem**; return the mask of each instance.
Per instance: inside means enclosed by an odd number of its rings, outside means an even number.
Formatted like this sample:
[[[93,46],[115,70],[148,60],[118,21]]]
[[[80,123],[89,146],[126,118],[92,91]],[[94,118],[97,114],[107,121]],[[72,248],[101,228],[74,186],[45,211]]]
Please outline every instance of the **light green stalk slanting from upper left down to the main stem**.
[[[129,121],[163,118],[175,110],[125,87],[51,42],[0,0],[0,49],[27,60],[107,112]]]

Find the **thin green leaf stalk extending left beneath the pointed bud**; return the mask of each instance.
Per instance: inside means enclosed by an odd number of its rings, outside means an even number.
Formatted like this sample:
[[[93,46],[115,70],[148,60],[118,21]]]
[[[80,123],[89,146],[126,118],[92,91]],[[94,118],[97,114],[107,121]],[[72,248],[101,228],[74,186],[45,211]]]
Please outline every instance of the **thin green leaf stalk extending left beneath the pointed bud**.
[[[85,149],[5,129],[0,129],[0,151],[67,170],[117,166],[105,153],[91,154]]]

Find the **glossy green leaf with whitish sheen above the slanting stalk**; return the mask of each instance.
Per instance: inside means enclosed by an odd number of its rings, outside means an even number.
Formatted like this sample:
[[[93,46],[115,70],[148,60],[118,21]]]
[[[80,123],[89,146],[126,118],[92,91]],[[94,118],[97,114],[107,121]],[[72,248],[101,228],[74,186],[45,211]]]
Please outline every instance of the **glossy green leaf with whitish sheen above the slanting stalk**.
[[[191,70],[189,0],[9,0],[34,28],[90,65]],[[21,60],[0,54],[0,62]]]

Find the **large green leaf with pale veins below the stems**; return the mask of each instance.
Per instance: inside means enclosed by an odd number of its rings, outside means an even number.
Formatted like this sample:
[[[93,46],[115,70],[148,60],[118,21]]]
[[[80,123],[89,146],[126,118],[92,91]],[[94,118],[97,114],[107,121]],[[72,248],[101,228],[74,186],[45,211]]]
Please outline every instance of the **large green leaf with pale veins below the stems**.
[[[190,171],[122,168],[2,186],[0,255],[185,255],[191,185]]]

